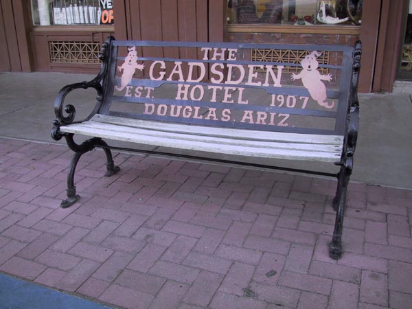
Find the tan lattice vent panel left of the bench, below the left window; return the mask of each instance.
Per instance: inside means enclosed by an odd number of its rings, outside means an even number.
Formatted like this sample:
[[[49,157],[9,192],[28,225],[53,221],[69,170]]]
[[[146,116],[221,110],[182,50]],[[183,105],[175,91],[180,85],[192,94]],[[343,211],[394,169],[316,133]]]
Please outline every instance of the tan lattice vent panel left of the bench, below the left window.
[[[100,63],[100,43],[82,41],[49,42],[52,63]]]

